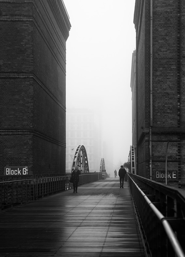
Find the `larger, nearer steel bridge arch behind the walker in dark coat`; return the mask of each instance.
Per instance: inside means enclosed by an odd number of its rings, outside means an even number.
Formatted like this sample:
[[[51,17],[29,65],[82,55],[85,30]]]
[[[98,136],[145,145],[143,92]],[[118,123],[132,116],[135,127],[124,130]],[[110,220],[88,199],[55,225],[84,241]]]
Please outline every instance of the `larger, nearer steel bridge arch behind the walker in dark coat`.
[[[75,156],[72,162],[71,172],[78,168],[80,172],[89,172],[87,152],[84,145],[79,145],[76,148]]]

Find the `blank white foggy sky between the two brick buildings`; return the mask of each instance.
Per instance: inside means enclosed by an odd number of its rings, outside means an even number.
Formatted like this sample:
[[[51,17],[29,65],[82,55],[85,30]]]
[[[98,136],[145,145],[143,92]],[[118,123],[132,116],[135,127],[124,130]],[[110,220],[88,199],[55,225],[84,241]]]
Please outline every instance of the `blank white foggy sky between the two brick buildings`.
[[[63,0],[71,30],[66,42],[66,107],[99,109],[114,164],[132,144],[131,62],[135,0]]]

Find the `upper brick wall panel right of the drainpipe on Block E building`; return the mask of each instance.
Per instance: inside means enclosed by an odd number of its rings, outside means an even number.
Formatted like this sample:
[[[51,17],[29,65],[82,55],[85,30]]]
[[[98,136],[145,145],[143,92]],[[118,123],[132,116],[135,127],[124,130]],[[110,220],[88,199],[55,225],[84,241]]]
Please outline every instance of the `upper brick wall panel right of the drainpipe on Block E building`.
[[[153,126],[179,127],[178,2],[153,3]]]

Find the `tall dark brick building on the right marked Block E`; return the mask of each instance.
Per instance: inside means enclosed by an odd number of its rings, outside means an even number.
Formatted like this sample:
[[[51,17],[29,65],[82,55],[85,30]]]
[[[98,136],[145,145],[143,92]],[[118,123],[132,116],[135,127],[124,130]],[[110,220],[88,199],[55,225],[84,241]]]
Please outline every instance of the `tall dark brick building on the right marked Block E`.
[[[136,0],[137,173],[185,184],[185,4]],[[169,142],[169,143],[168,143]],[[168,148],[167,148],[168,144]]]

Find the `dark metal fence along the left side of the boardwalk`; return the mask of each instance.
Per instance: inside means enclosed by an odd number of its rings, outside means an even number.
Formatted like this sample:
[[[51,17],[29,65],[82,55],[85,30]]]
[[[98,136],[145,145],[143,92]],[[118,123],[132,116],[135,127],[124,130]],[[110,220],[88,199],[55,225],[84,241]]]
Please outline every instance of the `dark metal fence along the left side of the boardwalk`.
[[[65,191],[73,187],[69,182],[71,174],[28,175],[0,177],[0,211],[19,204]],[[101,179],[101,173],[83,173],[79,185]]]

